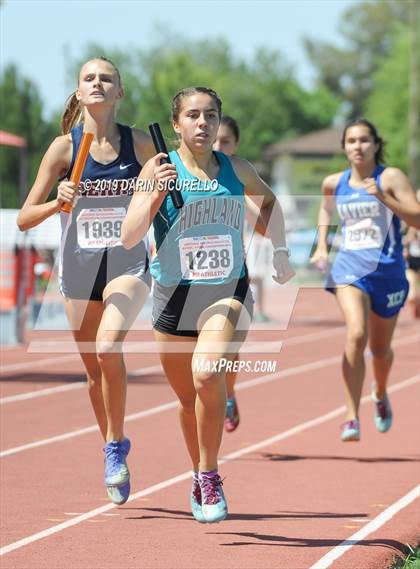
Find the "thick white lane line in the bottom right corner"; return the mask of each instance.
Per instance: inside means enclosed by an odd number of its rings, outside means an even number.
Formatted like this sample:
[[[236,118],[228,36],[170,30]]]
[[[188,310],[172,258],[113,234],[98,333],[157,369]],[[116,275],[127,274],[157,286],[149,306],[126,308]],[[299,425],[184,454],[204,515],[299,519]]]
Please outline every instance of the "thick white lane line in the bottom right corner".
[[[389,508],[381,512],[376,518],[371,522],[361,528],[359,531],[351,535],[348,539],[345,539],[341,543],[329,551],[324,557],[321,557],[319,561],[311,565],[309,569],[327,569],[332,563],[339,557],[341,557],[346,551],[351,549],[354,545],[359,543],[362,539],[367,537],[369,534],[373,533],[380,527],[382,527],[386,522],[389,522],[400,510],[409,506],[411,502],[414,502],[420,496],[420,485],[413,488],[408,494],[394,502]]]

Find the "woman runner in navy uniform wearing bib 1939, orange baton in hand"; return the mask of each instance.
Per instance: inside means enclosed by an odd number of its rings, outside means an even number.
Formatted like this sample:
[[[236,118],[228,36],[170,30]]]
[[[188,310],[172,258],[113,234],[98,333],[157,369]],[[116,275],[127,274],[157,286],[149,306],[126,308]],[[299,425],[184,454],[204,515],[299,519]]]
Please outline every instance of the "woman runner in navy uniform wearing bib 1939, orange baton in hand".
[[[154,154],[148,135],[115,122],[115,107],[123,94],[111,61],[97,58],[82,66],[63,114],[64,134],[47,150],[18,218],[20,229],[26,230],[64,204],[72,205],[70,213],[61,212],[60,289],[106,442],[105,485],[117,504],[130,492],[122,342],[150,285],[145,242],[128,252],[120,233],[141,164]],[[83,130],[92,132],[94,140],[76,187],[69,179]],[[47,202],[57,179],[57,198]]]

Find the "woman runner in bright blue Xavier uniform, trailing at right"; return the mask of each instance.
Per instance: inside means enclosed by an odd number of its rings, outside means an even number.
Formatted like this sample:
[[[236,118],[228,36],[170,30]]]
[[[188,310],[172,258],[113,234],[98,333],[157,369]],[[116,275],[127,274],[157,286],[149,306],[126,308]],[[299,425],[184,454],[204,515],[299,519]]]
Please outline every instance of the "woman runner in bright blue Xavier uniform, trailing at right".
[[[347,416],[343,441],[360,439],[359,404],[365,377],[364,350],[372,353],[375,425],[388,431],[392,410],[386,386],[393,360],[392,335],[407,297],[400,219],[420,227],[420,204],[407,177],[383,166],[383,140],[373,124],[359,119],[346,126],[342,147],[350,168],[327,176],[318,218],[319,241],[311,261],[325,264],[334,207],[342,242],[327,278],[346,323],[342,371]]]

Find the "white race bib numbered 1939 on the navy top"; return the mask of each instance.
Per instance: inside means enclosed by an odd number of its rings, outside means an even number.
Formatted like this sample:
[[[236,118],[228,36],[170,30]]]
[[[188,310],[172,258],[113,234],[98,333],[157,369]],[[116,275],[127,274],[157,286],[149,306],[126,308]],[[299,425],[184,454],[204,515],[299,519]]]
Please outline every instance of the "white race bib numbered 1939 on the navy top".
[[[82,249],[121,245],[125,207],[82,209],[77,217],[77,242]]]

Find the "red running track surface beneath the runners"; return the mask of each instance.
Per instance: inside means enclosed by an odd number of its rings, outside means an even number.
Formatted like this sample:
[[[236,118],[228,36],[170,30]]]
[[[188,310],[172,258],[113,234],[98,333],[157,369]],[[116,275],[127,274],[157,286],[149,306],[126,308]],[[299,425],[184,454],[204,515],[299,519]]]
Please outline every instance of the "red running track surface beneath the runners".
[[[4,350],[2,569],[378,569],[418,540],[419,334],[409,314],[394,340],[395,424],[375,430],[369,368],[360,443],[339,440],[344,327],[332,296],[301,291],[286,331],[260,326],[249,338],[284,343],[263,356],[276,373],[240,375],[241,424],[224,436],[220,466],[230,514],[214,525],[191,517],[190,465],[156,354],[127,355],[133,494],[117,508],[78,357]]]

